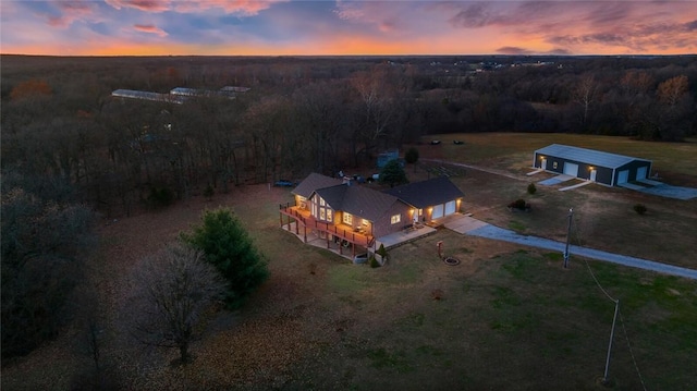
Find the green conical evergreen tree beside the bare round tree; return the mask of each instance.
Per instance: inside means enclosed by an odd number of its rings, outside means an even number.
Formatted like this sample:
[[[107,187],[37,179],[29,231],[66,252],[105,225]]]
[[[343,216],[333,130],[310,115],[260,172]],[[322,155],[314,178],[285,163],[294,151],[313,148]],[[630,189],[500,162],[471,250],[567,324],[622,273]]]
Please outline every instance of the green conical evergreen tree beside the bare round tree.
[[[181,239],[204,252],[206,260],[225,279],[228,290],[223,300],[229,309],[241,307],[269,276],[264,257],[230,208],[206,210],[201,224],[182,232]]]

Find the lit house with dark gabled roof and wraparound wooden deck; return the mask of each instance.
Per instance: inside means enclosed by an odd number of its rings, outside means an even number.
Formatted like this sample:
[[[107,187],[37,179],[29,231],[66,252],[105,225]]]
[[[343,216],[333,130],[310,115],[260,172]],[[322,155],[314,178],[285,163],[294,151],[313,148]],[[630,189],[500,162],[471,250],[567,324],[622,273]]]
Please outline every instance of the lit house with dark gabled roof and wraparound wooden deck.
[[[448,178],[417,182],[387,192],[334,178],[309,174],[292,191],[295,205],[281,205],[281,225],[303,235],[316,232],[354,248],[370,247],[376,239],[455,213],[463,193]],[[291,224],[291,221],[294,221]],[[354,254],[355,255],[355,254]]]

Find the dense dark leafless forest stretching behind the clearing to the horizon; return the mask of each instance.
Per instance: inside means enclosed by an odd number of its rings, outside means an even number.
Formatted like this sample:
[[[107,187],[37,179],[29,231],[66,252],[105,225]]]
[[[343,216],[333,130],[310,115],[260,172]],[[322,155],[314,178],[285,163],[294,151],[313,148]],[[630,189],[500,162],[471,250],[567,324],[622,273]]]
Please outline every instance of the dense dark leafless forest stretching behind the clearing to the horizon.
[[[697,134],[697,57],[2,56],[2,356],[54,335],[109,218],[209,187],[372,164],[464,132],[677,142]],[[248,87],[184,103],[117,89]],[[41,232],[41,235],[37,235]],[[50,293],[50,294],[47,294]]]

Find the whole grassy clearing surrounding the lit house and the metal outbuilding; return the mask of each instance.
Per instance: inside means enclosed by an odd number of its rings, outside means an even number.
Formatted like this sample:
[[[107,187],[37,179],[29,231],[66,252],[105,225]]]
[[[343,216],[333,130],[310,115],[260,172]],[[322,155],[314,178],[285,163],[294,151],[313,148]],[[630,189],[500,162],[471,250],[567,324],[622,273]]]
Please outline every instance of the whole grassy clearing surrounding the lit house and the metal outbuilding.
[[[523,140],[528,136],[541,145],[529,147]],[[697,201],[595,185],[572,192],[538,186],[529,196],[531,179],[525,172],[531,150],[572,140],[515,134],[450,137],[466,144],[441,137],[443,145],[418,146],[421,157],[509,175],[447,164],[407,167],[412,181],[439,170],[455,174],[453,182],[465,193],[464,212],[563,241],[567,209],[574,207],[575,242],[697,268]],[[669,160],[676,155],[653,154]],[[693,162],[695,156],[684,155]],[[518,197],[533,204],[531,212],[505,208]],[[90,276],[103,309],[101,359],[114,382],[130,390],[604,390],[600,379],[615,308],[607,293],[620,300],[611,389],[697,388],[697,281],[573,255],[571,268],[563,269],[560,254],[445,229],[392,249],[386,267],[354,266],[279,228],[278,204],[291,199],[285,188],[241,186],[210,201],[196,196],[159,212],[102,222]],[[632,210],[638,201],[647,205],[646,216]],[[208,330],[192,346],[194,364],[171,367],[175,351],[146,350],[122,328],[130,315],[123,302],[125,276],[139,258],[197,222],[205,208],[219,205],[232,207],[244,221],[269,259],[271,278],[243,310],[209,317]],[[458,266],[438,258],[439,241],[445,255],[462,261]],[[3,390],[70,389],[93,365],[82,338],[82,330],[71,327],[3,368]]]

